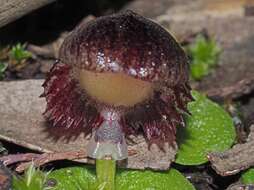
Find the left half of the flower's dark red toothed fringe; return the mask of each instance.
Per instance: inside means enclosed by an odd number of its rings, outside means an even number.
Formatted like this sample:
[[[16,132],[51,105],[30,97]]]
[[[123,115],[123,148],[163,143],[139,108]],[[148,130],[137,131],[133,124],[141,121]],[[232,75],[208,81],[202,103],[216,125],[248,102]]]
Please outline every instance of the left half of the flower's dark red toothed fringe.
[[[77,82],[70,77],[69,65],[56,63],[42,86],[42,96],[47,101],[43,114],[52,125],[46,131],[55,140],[69,141],[81,133],[87,135],[101,123],[96,108],[89,104],[78,90]]]

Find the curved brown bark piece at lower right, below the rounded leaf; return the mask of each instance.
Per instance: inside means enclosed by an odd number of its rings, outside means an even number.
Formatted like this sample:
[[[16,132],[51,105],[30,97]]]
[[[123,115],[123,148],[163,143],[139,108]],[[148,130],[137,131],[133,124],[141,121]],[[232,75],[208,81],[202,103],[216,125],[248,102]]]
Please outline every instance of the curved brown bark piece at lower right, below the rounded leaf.
[[[237,144],[230,150],[222,153],[208,154],[212,168],[220,175],[233,175],[241,170],[254,166],[254,125],[244,144]]]

